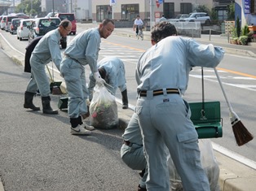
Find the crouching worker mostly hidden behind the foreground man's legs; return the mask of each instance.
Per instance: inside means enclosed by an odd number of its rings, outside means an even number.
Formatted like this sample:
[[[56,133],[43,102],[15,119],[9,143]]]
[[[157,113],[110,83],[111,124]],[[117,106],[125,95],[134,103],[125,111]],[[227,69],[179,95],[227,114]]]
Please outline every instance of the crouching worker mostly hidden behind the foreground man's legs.
[[[131,169],[141,171],[139,173],[141,180],[139,181],[138,191],[146,191],[148,166],[143,154],[143,141],[136,113],[130,118],[129,124],[121,137],[124,139],[123,145],[121,145],[121,159]]]

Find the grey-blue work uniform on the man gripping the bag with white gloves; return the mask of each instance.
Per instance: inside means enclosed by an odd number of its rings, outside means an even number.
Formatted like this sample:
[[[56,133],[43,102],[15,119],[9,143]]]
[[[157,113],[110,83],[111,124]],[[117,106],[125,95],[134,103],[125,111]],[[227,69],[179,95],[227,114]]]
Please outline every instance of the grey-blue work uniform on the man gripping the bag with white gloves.
[[[88,112],[85,66],[89,64],[91,72],[98,71],[100,41],[99,28],[91,28],[74,37],[64,51],[60,73],[64,77],[68,90],[68,116],[70,118],[77,118]]]

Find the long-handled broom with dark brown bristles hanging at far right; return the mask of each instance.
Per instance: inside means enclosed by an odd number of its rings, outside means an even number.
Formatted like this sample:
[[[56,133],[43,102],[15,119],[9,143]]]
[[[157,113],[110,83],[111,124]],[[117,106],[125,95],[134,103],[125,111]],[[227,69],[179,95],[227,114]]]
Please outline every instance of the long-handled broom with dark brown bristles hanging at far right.
[[[244,145],[245,143],[251,141],[254,139],[253,135],[245,128],[244,124],[242,124],[241,119],[239,119],[238,115],[233,111],[232,106],[230,102],[227,99],[227,95],[223,89],[223,84],[220,80],[220,77],[218,76],[217,69],[214,67],[214,72],[217,76],[218,83],[223,91],[223,95],[226,99],[227,106],[229,108],[229,115],[230,115],[230,120],[232,124],[232,129],[236,138],[236,144],[241,146]]]

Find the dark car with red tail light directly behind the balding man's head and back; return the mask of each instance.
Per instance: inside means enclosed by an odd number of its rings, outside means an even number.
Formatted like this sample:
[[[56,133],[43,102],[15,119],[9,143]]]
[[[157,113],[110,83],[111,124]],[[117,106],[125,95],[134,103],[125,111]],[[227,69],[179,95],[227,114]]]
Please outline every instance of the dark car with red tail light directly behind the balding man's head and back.
[[[43,36],[49,31],[58,28],[60,22],[61,20],[58,17],[35,19],[33,23],[29,26],[29,42],[32,41],[35,37]],[[63,49],[67,47],[66,37],[61,38],[60,45]]]

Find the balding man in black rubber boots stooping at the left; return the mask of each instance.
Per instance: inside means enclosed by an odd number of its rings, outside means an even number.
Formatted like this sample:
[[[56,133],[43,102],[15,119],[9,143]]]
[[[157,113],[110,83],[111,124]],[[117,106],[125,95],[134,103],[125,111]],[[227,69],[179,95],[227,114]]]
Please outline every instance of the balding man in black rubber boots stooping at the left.
[[[42,37],[35,46],[31,58],[31,79],[24,94],[24,108],[30,108],[33,111],[39,111],[40,107],[33,105],[33,96],[39,89],[42,97],[42,112],[45,114],[58,114],[58,111],[52,110],[50,105],[50,83],[46,75],[46,64],[51,60],[60,70],[61,52],[60,38],[67,37],[71,32],[72,24],[69,20],[61,21],[58,28],[52,30]]]

